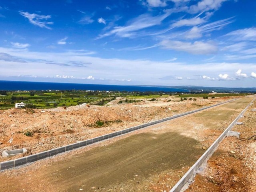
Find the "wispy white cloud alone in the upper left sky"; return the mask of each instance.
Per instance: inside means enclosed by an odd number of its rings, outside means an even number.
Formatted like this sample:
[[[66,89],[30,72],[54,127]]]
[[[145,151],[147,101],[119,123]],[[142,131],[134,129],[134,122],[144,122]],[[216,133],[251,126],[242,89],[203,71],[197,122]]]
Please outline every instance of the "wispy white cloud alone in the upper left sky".
[[[22,11],[20,11],[20,15],[28,18],[29,22],[32,23],[33,25],[39,26],[41,28],[52,29],[48,25],[52,25],[53,22],[45,21],[51,18],[50,15],[38,15],[35,13],[30,14],[28,12],[22,12]]]

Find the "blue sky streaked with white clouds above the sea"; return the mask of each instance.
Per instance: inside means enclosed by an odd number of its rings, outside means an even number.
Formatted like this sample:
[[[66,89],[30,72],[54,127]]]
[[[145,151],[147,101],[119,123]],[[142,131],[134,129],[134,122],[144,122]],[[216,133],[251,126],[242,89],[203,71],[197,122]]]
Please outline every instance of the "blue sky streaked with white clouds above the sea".
[[[254,0],[0,0],[0,80],[255,87]]]

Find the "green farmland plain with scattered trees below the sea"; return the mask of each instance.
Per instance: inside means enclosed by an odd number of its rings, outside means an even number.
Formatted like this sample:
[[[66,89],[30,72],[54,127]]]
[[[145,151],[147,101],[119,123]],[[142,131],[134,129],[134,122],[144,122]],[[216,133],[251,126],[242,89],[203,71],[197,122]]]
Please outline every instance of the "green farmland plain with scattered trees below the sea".
[[[86,91],[34,91],[34,92],[4,92],[5,95],[0,96],[0,109],[14,108],[15,103],[24,102],[27,107],[31,108],[55,108],[60,106],[76,106],[78,104],[87,103],[92,105],[105,105],[116,97],[123,97],[122,102],[139,102],[140,100],[152,98],[167,98],[170,93],[161,92],[86,92]],[[174,94],[173,94],[174,95]],[[228,97],[228,96],[244,96],[248,94],[176,94],[176,97]],[[175,96],[175,95],[174,95]],[[127,100],[127,101],[126,101]],[[30,104],[30,105],[28,105]]]

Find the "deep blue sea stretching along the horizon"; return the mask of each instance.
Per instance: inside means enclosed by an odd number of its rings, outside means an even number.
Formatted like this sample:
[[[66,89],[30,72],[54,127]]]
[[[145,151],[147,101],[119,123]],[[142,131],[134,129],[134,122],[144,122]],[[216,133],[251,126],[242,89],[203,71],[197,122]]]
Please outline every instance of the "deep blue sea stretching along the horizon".
[[[189,92],[186,89],[150,86],[101,85],[55,82],[0,81],[0,90],[92,90],[138,92]]]

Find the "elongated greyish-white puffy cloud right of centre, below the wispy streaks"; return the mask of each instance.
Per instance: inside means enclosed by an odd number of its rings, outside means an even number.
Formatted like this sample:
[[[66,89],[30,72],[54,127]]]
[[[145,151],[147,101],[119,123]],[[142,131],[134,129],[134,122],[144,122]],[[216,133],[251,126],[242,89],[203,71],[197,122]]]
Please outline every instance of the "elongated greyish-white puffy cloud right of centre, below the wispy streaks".
[[[182,41],[173,41],[173,40],[163,40],[160,42],[160,45],[166,49],[172,49],[176,51],[185,51],[192,54],[212,54],[217,52],[218,48],[210,42],[201,42],[195,41],[191,42],[182,42]]]

